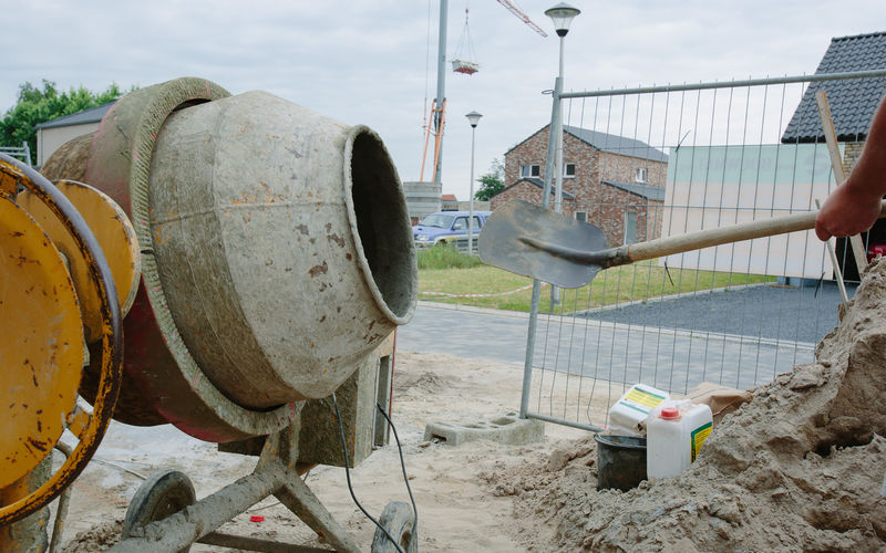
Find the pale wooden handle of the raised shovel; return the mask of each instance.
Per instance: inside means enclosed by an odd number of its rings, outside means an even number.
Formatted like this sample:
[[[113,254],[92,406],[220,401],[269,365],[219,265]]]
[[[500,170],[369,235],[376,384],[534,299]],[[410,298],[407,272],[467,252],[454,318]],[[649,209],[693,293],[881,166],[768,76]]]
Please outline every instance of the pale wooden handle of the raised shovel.
[[[628,262],[642,261],[646,259],[683,253],[691,250],[700,250],[711,246],[720,246],[753,238],[765,238],[775,234],[785,234],[797,230],[810,230],[815,228],[817,211],[805,211],[792,213],[784,217],[772,219],[760,219],[756,221],[741,222],[731,227],[720,227],[709,230],[699,230],[674,237],[659,238],[648,242],[639,242],[628,246]],[[886,202],[880,207],[880,218],[886,217]]]

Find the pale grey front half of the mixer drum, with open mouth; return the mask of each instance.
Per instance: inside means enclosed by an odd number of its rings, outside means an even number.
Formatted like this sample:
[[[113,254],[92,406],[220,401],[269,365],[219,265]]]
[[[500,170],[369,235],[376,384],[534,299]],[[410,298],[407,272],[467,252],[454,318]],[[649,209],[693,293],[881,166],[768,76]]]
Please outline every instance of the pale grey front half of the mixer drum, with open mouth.
[[[408,320],[414,265],[392,174],[370,129],[264,92],[164,124],[156,265],[188,351],[236,403],[328,396]]]

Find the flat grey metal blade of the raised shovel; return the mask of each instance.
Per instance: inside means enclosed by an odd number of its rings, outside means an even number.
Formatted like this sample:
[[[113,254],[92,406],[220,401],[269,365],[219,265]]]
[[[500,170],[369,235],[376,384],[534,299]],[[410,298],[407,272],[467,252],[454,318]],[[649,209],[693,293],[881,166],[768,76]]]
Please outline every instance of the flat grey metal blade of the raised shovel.
[[[557,257],[529,246],[521,238],[588,252],[606,249],[600,229],[534,204],[514,200],[493,211],[477,239],[484,263],[560,288],[580,288],[590,282],[599,265]]]

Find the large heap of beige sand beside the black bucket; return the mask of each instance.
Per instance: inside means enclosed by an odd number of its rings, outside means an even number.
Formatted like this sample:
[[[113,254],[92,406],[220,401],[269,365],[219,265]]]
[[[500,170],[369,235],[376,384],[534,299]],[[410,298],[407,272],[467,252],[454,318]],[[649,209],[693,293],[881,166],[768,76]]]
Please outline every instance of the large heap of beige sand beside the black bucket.
[[[886,260],[801,365],[752,389],[673,479],[596,491],[593,439],[490,460],[534,551],[884,551]]]

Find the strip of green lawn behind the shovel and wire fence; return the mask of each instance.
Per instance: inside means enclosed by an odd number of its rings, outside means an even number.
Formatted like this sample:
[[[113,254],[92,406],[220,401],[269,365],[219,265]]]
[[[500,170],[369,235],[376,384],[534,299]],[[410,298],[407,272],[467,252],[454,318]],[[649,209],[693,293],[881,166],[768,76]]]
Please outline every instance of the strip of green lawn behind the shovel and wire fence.
[[[666,271],[657,262],[645,261],[600,271],[590,284],[580,289],[562,290],[560,304],[556,307],[556,311],[570,313],[604,305],[648,300],[661,295],[774,281],[774,276],[762,274],[690,269],[668,269]],[[447,299],[439,295],[422,294],[421,292],[442,292],[453,295],[499,294],[527,286],[532,282],[532,279],[526,276],[518,276],[482,263],[468,269],[422,269],[421,264],[419,265],[419,299],[434,302],[528,313],[532,302],[532,289],[507,295],[492,295],[491,298]],[[546,286],[542,289],[539,312],[546,313],[549,310],[550,288]]]

